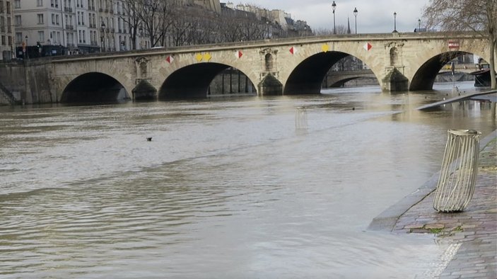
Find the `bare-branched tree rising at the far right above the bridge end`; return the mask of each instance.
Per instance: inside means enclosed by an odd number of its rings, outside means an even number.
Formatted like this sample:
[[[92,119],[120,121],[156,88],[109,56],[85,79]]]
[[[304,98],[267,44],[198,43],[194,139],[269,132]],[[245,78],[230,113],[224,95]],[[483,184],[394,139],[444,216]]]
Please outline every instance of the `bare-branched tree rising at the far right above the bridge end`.
[[[491,88],[497,89],[495,56],[497,50],[496,0],[431,0],[424,8],[428,28],[445,31],[474,31],[488,38],[490,48]]]

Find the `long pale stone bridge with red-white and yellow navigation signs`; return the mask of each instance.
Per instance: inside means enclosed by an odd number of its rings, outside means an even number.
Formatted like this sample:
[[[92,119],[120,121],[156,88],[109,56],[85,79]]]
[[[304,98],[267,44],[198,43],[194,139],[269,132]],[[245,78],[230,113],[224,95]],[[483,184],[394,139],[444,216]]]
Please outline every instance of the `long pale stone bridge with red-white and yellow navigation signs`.
[[[489,61],[488,41],[474,33],[333,35],[59,57],[50,63],[50,93],[58,102],[204,97],[228,67],[259,95],[320,93],[325,74],[348,55],[368,65],[383,91],[415,91],[431,89],[464,53]]]

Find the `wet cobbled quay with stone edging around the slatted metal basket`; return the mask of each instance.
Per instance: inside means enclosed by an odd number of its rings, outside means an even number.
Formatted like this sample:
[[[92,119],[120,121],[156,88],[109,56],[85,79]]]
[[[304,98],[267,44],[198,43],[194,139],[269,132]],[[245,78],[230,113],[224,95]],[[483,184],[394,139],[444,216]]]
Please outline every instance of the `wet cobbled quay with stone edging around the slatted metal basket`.
[[[416,192],[382,212],[370,229],[397,234],[435,234],[450,244],[447,265],[434,278],[497,278],[497,131],[481,139],[472,200],[463,212],[433,209],[438,174]]]

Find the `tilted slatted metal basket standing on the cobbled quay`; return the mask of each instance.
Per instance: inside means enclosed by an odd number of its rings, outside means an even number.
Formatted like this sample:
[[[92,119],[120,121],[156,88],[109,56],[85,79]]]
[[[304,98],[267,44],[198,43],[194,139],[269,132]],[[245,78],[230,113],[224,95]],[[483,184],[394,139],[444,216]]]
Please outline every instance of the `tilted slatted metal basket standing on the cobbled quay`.
[[[480,135],[481,132],[476,130],[448,130],[442,169],[433,200],[436,211],[462,211],[473,197]]]

